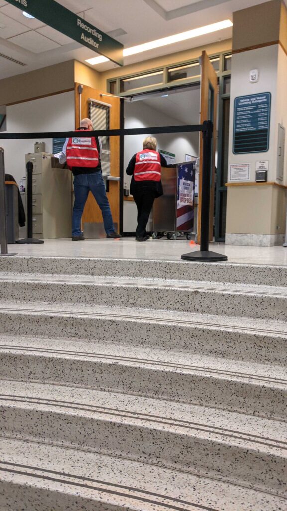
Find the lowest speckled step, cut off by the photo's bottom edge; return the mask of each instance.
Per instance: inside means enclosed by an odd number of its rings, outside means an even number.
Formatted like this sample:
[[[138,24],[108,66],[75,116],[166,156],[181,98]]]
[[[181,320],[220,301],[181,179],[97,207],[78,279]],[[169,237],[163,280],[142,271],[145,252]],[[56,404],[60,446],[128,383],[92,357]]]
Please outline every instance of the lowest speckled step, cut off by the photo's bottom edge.
[[[0,438],[2,510],[283,511],[286,500],[147,463]]]

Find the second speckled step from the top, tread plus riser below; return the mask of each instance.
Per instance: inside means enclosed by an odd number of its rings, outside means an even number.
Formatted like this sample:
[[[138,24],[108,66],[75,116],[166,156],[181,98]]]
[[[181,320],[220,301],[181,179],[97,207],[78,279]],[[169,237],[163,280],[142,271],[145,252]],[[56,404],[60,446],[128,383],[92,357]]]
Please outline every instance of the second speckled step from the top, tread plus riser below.
[[[0,334],[69,338],[287,365],[281,321],[135,308],[0,302]]]

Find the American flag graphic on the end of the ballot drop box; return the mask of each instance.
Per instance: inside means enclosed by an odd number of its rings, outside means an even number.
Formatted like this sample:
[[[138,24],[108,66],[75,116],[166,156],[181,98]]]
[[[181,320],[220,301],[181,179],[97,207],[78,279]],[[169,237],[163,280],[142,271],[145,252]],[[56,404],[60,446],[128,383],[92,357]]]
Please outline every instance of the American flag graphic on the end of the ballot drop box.
[[[178,166],[177,219],[178,230],[189,231],[194,226],[195,162]]]

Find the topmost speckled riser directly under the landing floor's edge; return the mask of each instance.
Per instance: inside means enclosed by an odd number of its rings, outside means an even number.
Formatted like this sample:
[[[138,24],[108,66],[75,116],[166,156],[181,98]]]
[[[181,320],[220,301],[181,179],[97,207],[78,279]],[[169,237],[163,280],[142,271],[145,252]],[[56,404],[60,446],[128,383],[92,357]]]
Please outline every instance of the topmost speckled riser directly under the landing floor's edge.
[[[230,263],[15,256],[0,258],[0,271],[52,275],[160,277],[186,281],[287,286],[286,266]]]

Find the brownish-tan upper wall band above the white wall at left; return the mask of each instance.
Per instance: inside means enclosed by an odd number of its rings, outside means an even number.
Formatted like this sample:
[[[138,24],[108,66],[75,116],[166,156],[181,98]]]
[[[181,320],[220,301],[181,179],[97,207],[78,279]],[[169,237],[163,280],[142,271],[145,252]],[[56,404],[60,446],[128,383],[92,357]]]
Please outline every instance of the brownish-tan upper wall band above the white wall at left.
[[[0,80],[0,104],[9,105],[74,88],[74,60]]]

